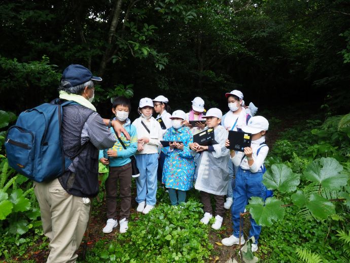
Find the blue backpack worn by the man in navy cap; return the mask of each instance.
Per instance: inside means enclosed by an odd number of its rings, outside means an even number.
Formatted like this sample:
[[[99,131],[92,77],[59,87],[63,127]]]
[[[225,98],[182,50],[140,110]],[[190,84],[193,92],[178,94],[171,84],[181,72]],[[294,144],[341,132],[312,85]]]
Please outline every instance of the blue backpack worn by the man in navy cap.
[[[36,182],[57,178],[72,163],[63,153],[62,107],[76,103],[67,101],[59,104],[59,101],[56,99],[22,112],[6,136],[9,165]]]

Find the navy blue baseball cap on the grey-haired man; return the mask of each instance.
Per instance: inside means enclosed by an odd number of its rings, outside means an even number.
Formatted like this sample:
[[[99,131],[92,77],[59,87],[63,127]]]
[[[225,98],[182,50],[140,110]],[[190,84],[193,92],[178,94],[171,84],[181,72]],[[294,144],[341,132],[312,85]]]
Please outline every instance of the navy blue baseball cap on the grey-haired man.
[[[71,85],[64,85],[67,88],[81,85],[89,80],[97,80],[101,81],[102,79],[99,77],[92,76],[91,71],[85,68],[82,65],[71,64],[68,65],[67,68],[63,71],[61,81],[67,81]]]

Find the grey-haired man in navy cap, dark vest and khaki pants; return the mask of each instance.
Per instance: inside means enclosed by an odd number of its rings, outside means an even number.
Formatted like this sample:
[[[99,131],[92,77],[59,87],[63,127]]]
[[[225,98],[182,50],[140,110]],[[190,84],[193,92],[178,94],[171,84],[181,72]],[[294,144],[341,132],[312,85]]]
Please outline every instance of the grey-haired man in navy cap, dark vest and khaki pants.
[[[44,234],[50,239],[47,262],[75,262],[75,253],[89,220],[90,198],[98,192],[98,150],[110,148],[117,133],[126,131],[116,121],[102,119],[91,104],[94,82],[101,81],[82,65],[69,65],[58,87],[60,101],[74,103],[63,107],[61,136],[64,155],[73,160],[60,177],[34,182]],[[50,165],[47,163],[47,165]]]

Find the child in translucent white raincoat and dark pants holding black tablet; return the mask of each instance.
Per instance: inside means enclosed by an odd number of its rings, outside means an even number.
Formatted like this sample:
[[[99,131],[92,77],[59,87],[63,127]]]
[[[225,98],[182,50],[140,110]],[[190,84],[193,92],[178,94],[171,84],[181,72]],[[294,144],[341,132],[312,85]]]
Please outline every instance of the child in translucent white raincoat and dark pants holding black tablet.
[[[207,128],[214,129],[214,138],[218,144],[202,146],[193,143],[190,145],[192,150],[200,153],[197,161],[197,180],[194,188],[200,190],[201,202],[204,205],[204,217],[200,221],[204,224],[207,224],[213,217],[211,204],[211,195],[213,195],[216,202],[216,217],[212,228],[219,229],[225,214],[224,202],[228,182],[230,151],[225,147],[228,131],[222,125],[219,125],[222,118],[221,110],[217,108],[209,109],[203,118],[206,119]]]

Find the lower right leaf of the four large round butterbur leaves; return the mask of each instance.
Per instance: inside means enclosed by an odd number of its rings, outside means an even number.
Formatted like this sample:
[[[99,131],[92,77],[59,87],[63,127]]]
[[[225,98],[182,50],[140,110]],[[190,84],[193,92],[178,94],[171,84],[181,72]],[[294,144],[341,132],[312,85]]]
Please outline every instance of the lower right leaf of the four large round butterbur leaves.
[[[335,214],[334,204],[317,193],[310,194],[306,207],[315,218],[321,220]]]

